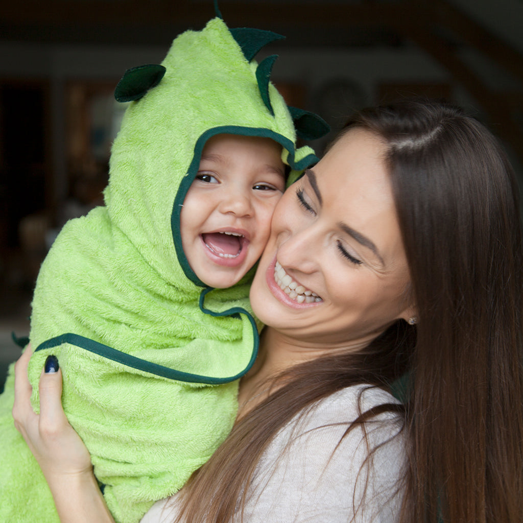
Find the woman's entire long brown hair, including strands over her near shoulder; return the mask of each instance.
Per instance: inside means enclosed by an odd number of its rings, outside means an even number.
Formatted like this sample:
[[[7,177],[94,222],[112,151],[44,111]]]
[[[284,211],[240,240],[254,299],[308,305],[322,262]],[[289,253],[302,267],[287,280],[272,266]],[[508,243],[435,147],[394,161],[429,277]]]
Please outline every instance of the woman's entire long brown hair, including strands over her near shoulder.
[[[444,104],[364,110],[354,127],[388,144],[418,325],[398,321],[358,354],[287,371],[184,488],[191,523],[231,520],[261,454],[306,407],[349,385],[388,388],[406,371],[402,521],[521,520],[523,253],[510,165],[481,124]],[[355,422],[382,410],[398,409]]]

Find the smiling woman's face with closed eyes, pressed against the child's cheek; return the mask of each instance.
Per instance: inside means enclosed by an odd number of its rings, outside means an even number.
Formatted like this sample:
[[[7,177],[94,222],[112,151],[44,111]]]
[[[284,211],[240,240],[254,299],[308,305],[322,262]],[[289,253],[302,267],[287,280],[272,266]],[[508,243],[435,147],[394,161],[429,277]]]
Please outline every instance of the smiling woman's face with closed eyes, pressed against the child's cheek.
[[[305,346],[357,348],[414,313],[384,154],[351,130],[276,207],[251,303]]]

